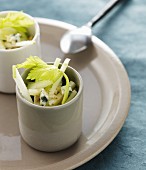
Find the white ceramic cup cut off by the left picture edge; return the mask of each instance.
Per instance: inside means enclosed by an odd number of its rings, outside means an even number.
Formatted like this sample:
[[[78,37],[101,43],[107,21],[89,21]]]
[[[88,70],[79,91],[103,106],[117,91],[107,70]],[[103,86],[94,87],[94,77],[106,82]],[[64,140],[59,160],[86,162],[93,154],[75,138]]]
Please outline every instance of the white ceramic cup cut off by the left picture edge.
[[[0,17],[6,16],[9,12],[15,13],[18,11],[3,11],[0,12]],[[15,93],[12,65],[24,62],[30,55],[41,56],[39,25],[33,17],[28,14],[25,15],[34,21],[34,25],[29,28],[29,32],[33,35],[33,41],[35,43],[15,49],[0,49],[0,92]]]

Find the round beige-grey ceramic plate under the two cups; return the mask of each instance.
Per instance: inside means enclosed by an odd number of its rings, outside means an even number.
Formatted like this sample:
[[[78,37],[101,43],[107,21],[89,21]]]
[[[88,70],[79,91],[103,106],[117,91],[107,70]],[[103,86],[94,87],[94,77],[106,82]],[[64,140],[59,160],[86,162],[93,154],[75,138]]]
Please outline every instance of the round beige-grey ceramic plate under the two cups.
[[[115,138],[128,114],[130,84],[114,52],[93,36],[93,44],[77,55],[64,55],[59,48],[63,33],[74,26],[37,19],[41,28],[42,58],[71,58],[84,81],[83,132],[72,147],[44,153],[30,148],[18,128],[15,95],[0,94],[0,169],[73,169],[98,155]],[[59,141],[58,141],[59,142]]]

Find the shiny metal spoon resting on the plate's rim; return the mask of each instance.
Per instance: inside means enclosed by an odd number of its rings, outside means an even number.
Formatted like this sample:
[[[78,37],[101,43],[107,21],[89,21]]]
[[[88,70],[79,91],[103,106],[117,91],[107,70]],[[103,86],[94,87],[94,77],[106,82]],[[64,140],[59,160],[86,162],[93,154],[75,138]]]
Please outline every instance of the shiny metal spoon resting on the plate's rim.
[[[121,0],[111,0],[87,24],[80,28],[65,33],[60,41],[61,50],[65,54],[75,54],[85,50],[88,47],[88,45],[92,42],[91,28],[120,1]]]

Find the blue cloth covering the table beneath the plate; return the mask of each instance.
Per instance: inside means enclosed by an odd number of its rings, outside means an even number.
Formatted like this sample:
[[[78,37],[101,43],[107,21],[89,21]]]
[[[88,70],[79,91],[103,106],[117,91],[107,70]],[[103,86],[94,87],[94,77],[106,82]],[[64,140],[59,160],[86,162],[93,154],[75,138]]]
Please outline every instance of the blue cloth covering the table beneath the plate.
[[[86,23],[108,0],[1,0],[0,11],[23,10],[34,17]],[[146,0],[123,0],[93,28],[119,56],[132,88],[129,116],[114,141],[77,170],[146,169]]]

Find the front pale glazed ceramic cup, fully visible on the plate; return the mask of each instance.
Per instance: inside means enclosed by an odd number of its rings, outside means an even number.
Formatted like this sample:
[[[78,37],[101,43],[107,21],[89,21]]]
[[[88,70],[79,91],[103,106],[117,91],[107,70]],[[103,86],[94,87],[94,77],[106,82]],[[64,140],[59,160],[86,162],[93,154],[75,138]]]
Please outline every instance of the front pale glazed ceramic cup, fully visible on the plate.
[[[81,135],[83,81],[71,67],[67,68],[66,74],[77,84],[78,93],[63,105],[44,107],[29,103],[16,87],[20,133],[26,143],[37,150],[63,150],[74,144]],[[22,77],[25,76],[26,72]]]

